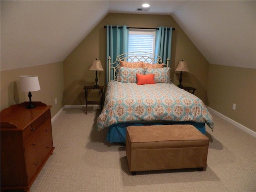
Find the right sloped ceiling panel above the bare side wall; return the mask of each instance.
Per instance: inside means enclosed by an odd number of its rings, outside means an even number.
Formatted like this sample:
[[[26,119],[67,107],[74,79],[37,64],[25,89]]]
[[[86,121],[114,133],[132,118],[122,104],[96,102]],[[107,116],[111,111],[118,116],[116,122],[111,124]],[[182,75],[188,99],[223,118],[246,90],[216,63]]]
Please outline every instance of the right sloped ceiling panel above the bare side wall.
[[[256,68],[256,1],[190,1],[172,17],[210,64]]]

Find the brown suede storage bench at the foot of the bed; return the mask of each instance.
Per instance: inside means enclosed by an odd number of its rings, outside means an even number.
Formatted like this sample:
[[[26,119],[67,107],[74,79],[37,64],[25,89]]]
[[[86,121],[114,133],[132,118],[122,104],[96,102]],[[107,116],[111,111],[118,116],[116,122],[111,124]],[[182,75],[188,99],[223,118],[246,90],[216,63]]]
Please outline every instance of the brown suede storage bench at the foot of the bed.
[[[126,156],[137,171],[206,170],[209,139],[192,125],[128,126]]]

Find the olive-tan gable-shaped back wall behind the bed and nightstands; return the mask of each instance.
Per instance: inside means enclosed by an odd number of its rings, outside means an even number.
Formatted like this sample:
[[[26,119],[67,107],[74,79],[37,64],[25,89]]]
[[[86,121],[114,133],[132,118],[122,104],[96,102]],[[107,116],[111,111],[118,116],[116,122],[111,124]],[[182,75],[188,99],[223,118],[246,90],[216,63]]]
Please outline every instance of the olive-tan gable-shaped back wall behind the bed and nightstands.
[[[183,86],[193,86],[196,96],[206,101],[208,62],[184,34],[171,16],[144,14],[108,14],[88,36],[64,60],[64,104],[84,104],[84,85],[94,85],[95,72],[89,71],[92,60],[98,58],[105,71],[98,72],[98,84],[106,84],[106,28],[105,25],[127,25],[131,27],[174,27],[172,35],[171,78],[179,84],[180,74],[174,73],[179,60],[185,60],[189,72],[182,74]],[[105,85],[106,86],[106,85]],[[97,91],[89,92],[89,100],[99,97]]]

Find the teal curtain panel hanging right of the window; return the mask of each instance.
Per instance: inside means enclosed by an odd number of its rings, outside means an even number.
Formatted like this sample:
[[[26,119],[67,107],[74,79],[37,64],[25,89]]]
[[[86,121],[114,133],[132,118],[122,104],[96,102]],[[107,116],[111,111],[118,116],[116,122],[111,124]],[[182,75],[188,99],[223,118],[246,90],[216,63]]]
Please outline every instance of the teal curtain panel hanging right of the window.
[[[155,54],[162,58],[162,61],[166,63],[167,58],[171,61],[171,49],[172,49],[172,27],[159,27],[156,30],[156,45]],[[170,67],[171,62],[169,62]]]

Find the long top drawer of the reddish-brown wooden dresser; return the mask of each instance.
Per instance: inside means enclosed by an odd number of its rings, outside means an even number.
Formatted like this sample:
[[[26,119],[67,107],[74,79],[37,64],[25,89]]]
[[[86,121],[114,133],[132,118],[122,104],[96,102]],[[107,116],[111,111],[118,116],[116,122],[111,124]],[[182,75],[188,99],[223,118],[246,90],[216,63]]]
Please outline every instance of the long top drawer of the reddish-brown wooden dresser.
[[[33,134],[46,120],[48,120],[51,116],[50,110],[46,111],[42,114],[35,122],[26,127],[26,129],[22,132],[23,140],[27,140],[28,137]]]

